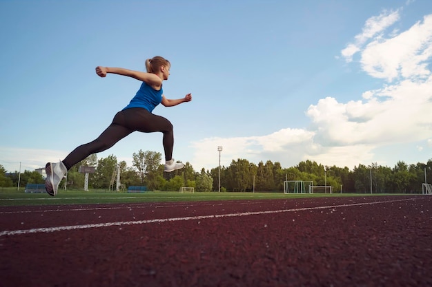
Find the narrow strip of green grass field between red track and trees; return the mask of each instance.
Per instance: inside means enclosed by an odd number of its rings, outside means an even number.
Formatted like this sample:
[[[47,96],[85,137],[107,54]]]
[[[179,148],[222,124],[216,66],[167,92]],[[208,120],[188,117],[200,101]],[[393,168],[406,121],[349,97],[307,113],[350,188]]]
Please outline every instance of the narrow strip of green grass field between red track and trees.
[[[98,191],[59,191],[55,197],[47,193],[24,193],[13,189],[0,191],[0,206],[47,205],[47,204],[106,204],[139,202],[186,202],[210,200],[263,200],[288,198],[320,198],[324,196],[370,196],[390,195],[389,193],[239,193],[239,192],[196,192],[179,193],[170,191],[148,191],[145,193],[98,192]],[[393,194],[395,195],[395,194]],[[404,194],[399,194],[404,195]]]

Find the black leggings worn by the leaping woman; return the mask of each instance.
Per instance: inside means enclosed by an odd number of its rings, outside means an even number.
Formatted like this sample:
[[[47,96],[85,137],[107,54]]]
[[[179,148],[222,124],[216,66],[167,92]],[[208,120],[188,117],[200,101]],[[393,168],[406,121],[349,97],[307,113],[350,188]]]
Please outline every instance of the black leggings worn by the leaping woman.
[[[90,156],[90,154],[109,149],[115,145],[116,142],[128,136],[128,134],[131,134],[133,131],[141,131],[143,133],[161,131],[164,133],[162,142],[164,145],[165,159],[171,160],[174,146],[173,125],[162,116],[152,114],[150,111],[141,107],[133,107],[119,111],[114,119],[112,119],[111,125],[106,128],[99,138],[74,149],[63,160],[63,164],[69,170],[77,164],[77,162]]]

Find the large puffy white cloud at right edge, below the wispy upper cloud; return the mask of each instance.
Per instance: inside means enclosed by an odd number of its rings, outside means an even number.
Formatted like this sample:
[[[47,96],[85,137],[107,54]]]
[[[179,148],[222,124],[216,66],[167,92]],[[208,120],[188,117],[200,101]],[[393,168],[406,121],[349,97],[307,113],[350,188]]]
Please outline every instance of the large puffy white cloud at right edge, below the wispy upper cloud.
[[[378,100],[384,97],[384,100]],[[424,140],[432,136],[432,77],[415,83],[403,81],[370,92],[366,101],[337,103],[324,98],[306,114],[323,146],[381,146],[394,142]]]

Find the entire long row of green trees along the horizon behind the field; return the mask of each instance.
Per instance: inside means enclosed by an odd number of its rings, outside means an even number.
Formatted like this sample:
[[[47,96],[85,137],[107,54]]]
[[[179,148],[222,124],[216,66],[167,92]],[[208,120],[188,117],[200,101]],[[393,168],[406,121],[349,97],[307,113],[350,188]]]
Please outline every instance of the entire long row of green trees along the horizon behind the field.
[[[132,167],[128,167],[126,162],[119,162],[114,155],[97,159],[93,154],[68,171],[66,184],[68,189],[83,189],[84,174],[79,173],[79,167],[90,166],[96,167],[96,172],[90,173],[88,187],[110,189],[117,179],[117,167],[122,190],[132,185],[146,186],[153,191],[178,191],[181,187],[194,187],[195,191],[219,190],[219,167],[197,172],[186,162],[184,169],[164,173],[161,160],[159,152],[139,150],[133,153]],[[432,179],[432,160],[410,165],[400,161],[393,168],[377,163],[369,166],[359,164],[351,171],[348,167],[328,167],[311,160],[302,161],[295,167],[282,168],[279,162],[271,160],[254,164],[238,159],[228,167],[220,168],[220,187],[221,191],[283,191],[285,180],[304,180],[313,181],[314,185],[326,184],[335,192],[421,193],[425,171],[427,178]],[[27,183],[43,183],[37,171],[24,171],[20,177],[21,187]],[[17,172],[7,176],[0,164],[0,187],[17,187],[17,184]]]

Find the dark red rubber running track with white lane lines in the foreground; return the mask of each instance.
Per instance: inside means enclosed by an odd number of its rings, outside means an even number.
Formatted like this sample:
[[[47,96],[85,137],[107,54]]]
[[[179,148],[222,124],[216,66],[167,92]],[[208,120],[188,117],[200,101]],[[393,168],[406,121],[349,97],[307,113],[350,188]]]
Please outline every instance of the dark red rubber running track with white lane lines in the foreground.
[[[0,207],[0,286],[432,286],[432,197]]]

